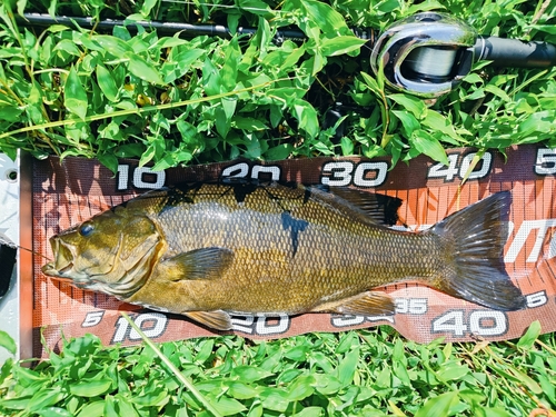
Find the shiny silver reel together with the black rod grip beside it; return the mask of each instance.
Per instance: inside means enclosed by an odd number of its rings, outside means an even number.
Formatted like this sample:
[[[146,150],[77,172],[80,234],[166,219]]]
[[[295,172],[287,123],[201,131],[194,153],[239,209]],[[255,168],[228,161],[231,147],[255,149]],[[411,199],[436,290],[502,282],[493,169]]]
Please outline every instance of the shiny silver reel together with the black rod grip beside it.
[[[388,87],[423,98],[448,93],[479,60],[504,67],[547,68],[556,64],[556,47],[484,38],[459,19],[425,12],[387,28],[370,54],[373,70],[383,71]]]

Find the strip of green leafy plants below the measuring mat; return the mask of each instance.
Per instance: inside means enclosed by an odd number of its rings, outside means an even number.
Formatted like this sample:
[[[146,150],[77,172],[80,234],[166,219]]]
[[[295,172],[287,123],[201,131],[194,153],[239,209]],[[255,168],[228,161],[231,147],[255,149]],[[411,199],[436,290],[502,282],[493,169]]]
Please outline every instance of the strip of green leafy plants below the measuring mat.
[[[0,414],[550,417],[556,339],[539,330],[535,322],[518,341],[500,344],[418,345],[380,327],[109,349],[89,335],[33,369],[9,360]]]

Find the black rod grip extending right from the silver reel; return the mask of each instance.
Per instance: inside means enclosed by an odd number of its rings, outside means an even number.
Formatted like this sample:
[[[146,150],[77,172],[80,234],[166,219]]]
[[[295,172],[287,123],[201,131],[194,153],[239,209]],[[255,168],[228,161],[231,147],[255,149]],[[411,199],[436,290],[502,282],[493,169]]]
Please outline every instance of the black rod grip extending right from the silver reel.
[[[493,61],[497,67],[549,68],[556,66],[556,46],[515,39],[478,37],[475,61]]]

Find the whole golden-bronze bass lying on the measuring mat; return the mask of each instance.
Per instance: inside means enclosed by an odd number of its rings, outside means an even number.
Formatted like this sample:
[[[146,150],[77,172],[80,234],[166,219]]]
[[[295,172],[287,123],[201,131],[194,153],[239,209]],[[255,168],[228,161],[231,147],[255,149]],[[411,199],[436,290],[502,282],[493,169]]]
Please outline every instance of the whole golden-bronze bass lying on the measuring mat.
[[[394,315],[384,287],[403,281],[496,310],[526,307],[503,259],[510,191],[424,231],[390,227],[401,202],[277,181],[165,187],[52,236],[42,272],[216,330],[232,329],[236,315]]]

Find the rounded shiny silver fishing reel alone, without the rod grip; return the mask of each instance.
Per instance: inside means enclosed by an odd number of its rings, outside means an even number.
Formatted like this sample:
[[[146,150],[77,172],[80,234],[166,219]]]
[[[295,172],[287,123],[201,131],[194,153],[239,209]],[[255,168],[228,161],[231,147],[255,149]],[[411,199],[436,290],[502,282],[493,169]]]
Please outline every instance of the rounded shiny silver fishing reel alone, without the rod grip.
[[[474,62],[477,32],[451,16],[425,12],[388,27],[370,54],[388,87],[423,98],[451,91]]]

